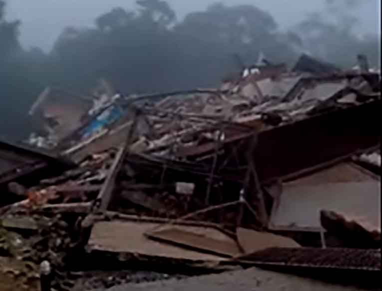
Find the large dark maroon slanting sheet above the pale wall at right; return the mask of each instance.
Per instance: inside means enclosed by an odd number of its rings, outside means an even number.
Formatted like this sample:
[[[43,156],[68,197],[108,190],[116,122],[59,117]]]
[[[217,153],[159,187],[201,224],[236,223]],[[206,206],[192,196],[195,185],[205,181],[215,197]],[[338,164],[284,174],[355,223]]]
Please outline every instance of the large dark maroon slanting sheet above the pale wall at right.
[[[259,133],[261,181],[271,181],[380,144],[381,100],[338,109]]]

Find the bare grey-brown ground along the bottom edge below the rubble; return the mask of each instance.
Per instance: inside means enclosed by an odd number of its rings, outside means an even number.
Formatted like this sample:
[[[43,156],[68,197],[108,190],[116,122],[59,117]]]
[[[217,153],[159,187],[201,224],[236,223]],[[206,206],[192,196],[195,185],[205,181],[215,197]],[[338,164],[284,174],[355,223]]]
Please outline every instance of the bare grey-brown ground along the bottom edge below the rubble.
[[[107,291],[360,291],[354,286],[342,286],[309,278],[266,271],[259,268],[221,274],[170,279],[151,283],[115,286]],[[370,290],[370,289],[369,289]],[[104,291],[104,290],[97,290]]]

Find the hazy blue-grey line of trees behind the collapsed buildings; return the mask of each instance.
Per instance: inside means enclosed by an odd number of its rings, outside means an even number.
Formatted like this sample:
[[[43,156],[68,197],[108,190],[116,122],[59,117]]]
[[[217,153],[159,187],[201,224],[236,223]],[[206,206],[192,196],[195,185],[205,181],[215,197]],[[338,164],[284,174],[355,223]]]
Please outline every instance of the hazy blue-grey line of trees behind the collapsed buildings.
[[[310,52],[342,66],[356,55],[379,63],[379,36],[356,37],[351,26],[310,15],[290,31],[253,5],[210,5],[177,19],[165,0],[137,0],[138,9],[111,8],[93,27],[67,27],[49,53],[23,49],[20,21],[5,20],[0,0],[0,135],[29,132],[26,112],[47,85],[86,92],[99,78],[124,93],[216,87],[260,52],[293,64]],[[345,19],[345,18],[344,18]],[[345,19],[350,22],[349,19]]]

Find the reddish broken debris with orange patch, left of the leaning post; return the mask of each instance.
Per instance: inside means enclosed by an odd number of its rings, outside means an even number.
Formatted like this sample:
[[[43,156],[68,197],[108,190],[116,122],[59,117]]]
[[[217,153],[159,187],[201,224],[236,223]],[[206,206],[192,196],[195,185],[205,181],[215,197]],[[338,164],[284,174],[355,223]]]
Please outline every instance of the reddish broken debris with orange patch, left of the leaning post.
[[[29,188],[17,182],[8,183],[8,191],[22,200],[0,208],[0,213],[14,207],[43,209],[46,211],[74,211],[89,209],[105,180],[116,150],[92,154],[76,168],[66,170],[58,176],[42,179]],[[74,209],[74,210],[73,210]]]

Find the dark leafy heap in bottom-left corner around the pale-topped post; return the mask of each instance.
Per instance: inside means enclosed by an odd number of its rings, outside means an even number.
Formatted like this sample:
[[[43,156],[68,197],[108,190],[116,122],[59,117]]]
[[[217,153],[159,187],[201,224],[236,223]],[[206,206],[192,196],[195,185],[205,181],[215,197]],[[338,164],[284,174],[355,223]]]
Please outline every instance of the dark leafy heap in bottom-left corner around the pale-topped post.
[[[46,260],[54,266],[52,287],[70,290],[81,274],[67,270],[67,258],[75,255],[80,241],[75,223],[66,222],[70,219],[59,214],[34,214],[28,216],[27,221],[22,212],[3,217],[0,228],[2,275],[13,278],[19,289],[39,290],[39,264]],[[18,234],[20,231],[23,235]]]

